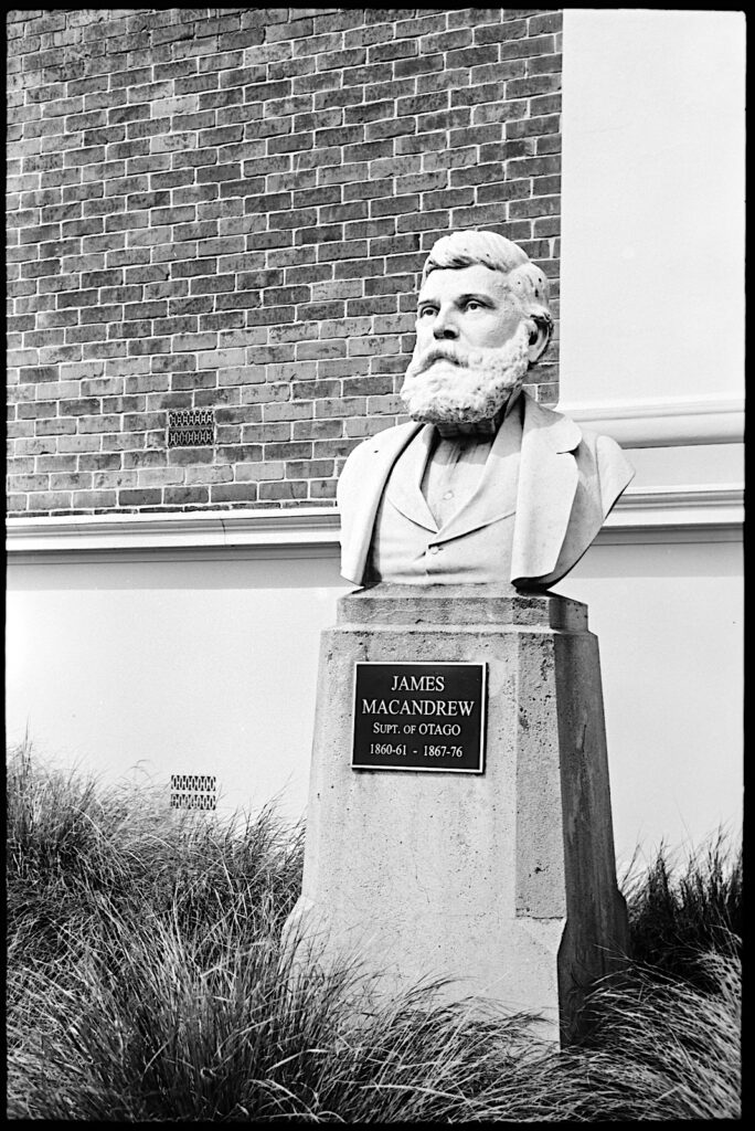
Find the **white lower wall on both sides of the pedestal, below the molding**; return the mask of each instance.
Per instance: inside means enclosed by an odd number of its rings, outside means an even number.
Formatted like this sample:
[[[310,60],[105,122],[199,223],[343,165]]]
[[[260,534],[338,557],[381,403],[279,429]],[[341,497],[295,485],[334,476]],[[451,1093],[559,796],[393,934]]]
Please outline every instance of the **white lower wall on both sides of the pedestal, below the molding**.
[[[28,725],[45,758],[105,778],[139,769],[166,798],[171,774],[216,774],[222,812],[278,796],[294,820],[319,633],[350,587],[335,547],[288,554],[11,563],[9,739]],[[588,603],[600,641],[622,858],[741,820],[740,555],[708,535],[607,529],[556,587]]]

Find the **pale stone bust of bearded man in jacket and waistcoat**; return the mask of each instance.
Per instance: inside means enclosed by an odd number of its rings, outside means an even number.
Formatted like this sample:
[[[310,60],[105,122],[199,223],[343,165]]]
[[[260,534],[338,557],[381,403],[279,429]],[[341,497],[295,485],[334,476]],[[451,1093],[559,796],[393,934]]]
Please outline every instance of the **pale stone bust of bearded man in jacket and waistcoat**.
[[[522,390],[552,331],[547,279],[517,244],[434,244],[400,391],[410,421],[361,443],[338,482],[345,578],[543,592],[579,561],[634,473],[609,437]]]

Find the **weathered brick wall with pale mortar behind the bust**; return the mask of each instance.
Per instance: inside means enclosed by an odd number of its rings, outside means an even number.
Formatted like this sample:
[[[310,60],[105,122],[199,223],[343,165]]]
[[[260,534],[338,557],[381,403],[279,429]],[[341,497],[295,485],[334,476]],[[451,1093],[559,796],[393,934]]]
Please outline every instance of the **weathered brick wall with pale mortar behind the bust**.
[[[559,11],[16,10],[8,49],[11,515],[332,502],[450,228],[557,314]]]

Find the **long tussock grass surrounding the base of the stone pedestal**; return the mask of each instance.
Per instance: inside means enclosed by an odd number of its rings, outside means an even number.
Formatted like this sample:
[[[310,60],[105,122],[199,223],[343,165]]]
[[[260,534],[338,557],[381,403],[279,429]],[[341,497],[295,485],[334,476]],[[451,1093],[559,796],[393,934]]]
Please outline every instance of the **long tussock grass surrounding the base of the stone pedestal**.
[[[7,805],[11,1119],[738,1117],[741,865],[720,838],[633,874],[641,961],[591,995],[589,1043],[557,1054],[527,1018],[480,1019],[439,986],[373,1008],[354,965],[293,968],[302,830],[270,811],[166,818],[28,746]]]

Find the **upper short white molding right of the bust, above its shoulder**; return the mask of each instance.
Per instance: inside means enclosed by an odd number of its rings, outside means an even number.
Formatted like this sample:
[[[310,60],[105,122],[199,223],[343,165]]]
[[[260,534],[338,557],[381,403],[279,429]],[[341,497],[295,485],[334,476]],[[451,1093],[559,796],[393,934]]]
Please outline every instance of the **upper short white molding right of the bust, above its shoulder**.
[[[593,432],[613,437],[623,448],[741,443],[745,438],[745,407],[739,397],[570,402],[559,404],[557,412]]]

